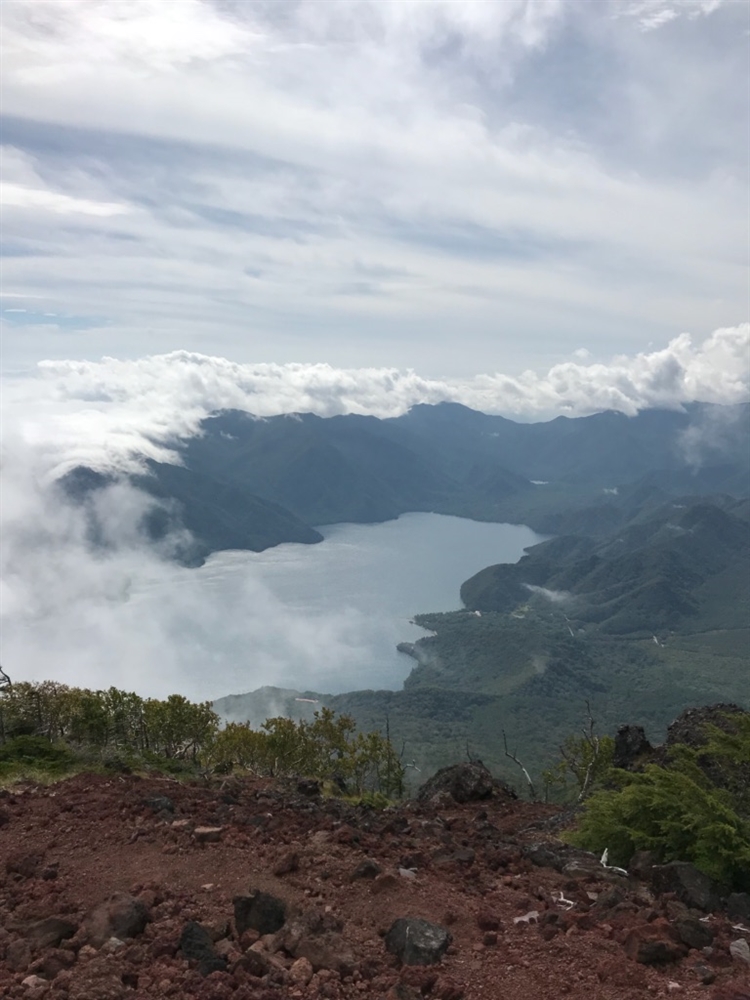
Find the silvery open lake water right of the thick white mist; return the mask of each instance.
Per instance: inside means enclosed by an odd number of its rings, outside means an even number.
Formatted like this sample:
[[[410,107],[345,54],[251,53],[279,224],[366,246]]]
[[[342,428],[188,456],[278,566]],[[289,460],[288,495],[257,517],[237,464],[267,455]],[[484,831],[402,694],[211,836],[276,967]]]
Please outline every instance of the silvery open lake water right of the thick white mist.
[[[319,530],[318,545],[218,553],[190,571],[212,605],[248,605],[244,637],[236,628],[216,636],[210,697],[264,684],[400,688],[414,662],[396,644],[425,634],[412,616],[461,607],[464,580],[542,540],[523,525],[439,514]]]

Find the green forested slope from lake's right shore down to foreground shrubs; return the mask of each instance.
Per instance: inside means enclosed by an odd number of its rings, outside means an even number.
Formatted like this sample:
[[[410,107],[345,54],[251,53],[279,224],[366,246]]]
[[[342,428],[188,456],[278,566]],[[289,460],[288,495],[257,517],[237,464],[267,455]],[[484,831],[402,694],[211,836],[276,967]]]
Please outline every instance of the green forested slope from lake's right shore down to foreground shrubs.
[[[750,690],[747,499],[683,498],[604,538],[564,536],[466,581],[468,605],[418,615],[431,634],[401,647],[416,666],[401,691],[305,692],[363,727],[386,721],[405,759],[431,772],[477,754],[510,776],[511,750],[537,776],[591,707],[663,732],[691,704]],[[263,690],[215,702],[228,718],[316,707]]]

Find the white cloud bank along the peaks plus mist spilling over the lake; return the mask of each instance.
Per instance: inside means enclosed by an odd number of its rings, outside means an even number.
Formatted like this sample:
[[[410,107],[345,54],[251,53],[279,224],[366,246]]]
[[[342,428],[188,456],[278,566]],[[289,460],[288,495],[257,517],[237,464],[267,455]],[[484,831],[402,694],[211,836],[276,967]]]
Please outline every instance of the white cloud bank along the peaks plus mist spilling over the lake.
[[[694,399],[739,402],[748,397],[749,345],[744,324],[700,343],[682,335],[664,350],[608,365],[570,362],[544,375],[464,382],[322,364],[239,365],[186,353],[44,362],[32,376],[6,379],[2,393],[2,662],[18,680],[206,697],[292,679],[329,686],[336,670],[350,673],[362,660],[367,626],[350,609],[300,622],[252,576],[228,604],[212,589],[210,572],[171,563],[169,547],[179,539],[161,550],[144,541],[139,523],[152,501],[127,483],[97,497],[106,545],[92,548],[86,512],[54,489],[77,464],[127,471],[143,456],[176,460],[174,439],[229,407],[261,417],[384,417],[450,400],[529,419],[605,408],[633,414]],[[697,455],[700,441],[687,444]],[[238,648],[248,651],[241,663]]]

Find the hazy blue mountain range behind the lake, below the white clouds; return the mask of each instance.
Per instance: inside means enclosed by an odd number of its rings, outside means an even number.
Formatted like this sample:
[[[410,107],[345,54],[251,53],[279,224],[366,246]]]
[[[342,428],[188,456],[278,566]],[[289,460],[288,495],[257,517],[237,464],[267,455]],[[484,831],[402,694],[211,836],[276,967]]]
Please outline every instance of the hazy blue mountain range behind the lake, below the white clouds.
[[[188,563],[407,511],[598,534],[669,496],[750,492],[749,411],[693,404],[524,424],[454,403],[383,420],[232,410],[172,442],[181,464],[149,461],[130,478],[154,498],[150,537],[188,529],[193,541],[177,552]],[[109,481],[79,467],[63,485],[85,503]]]

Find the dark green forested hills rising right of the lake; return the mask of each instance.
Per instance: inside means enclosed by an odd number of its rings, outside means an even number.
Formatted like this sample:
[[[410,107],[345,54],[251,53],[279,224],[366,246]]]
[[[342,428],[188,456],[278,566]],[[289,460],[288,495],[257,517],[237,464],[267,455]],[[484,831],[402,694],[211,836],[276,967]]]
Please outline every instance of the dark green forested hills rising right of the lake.
[[[746,625],[747,502],[671,502],[601,540],[562,536],[536,545],[461,588],[464,604],[478,611],[512,611],[534,595],[571,621],[616,635]]]

